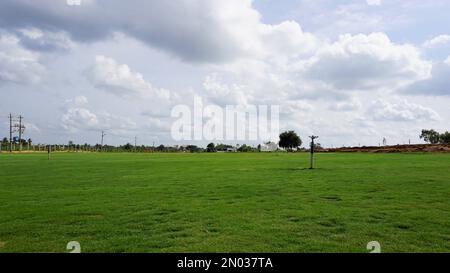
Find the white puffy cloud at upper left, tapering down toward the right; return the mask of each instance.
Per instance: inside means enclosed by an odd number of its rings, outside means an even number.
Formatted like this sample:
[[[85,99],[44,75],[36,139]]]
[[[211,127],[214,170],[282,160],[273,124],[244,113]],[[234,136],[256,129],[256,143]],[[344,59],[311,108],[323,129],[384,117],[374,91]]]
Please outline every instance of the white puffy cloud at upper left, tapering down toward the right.
[[[119,96],[170,98],[168,90],[153,87],[142,74],[105,56],[95,58],[94,66],[88,71],[88,78],[95,87]]]

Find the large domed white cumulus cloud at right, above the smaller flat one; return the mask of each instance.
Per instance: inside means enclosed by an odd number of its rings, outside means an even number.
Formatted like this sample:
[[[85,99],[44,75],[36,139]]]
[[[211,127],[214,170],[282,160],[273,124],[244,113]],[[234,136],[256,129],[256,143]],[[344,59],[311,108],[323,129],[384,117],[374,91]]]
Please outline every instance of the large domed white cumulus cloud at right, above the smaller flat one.
[[[383,33],[347,34],[321,48],[303,70],[337,89],[393,90],[429,78],[431,63],[414,46],[395,44]]]

